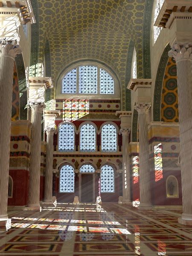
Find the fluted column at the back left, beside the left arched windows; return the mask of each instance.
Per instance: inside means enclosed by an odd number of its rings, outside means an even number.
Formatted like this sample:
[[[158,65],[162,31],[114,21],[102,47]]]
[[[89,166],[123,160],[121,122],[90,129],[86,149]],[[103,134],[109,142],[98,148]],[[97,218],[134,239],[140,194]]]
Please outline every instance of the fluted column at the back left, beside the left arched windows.
[[[45,190],[44,190],[44,202],[52,204],[52,179],[53,179],[53,135],[56,132],[54,128],[47,128],[45,130],[47,134],[47,146],[46,146],[46,167],[45,167]]]

